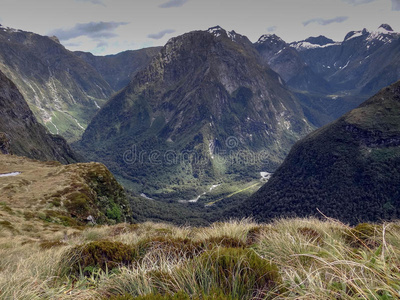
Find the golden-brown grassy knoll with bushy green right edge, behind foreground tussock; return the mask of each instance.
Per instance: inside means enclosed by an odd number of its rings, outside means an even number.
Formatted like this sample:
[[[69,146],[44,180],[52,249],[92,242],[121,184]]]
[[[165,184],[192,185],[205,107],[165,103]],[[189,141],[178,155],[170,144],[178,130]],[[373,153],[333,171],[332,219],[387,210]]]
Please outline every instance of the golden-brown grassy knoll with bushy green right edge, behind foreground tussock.
[[[2,222],[76,226],[131,220],[125,191],[102,164],[0,154],[0,173]]]

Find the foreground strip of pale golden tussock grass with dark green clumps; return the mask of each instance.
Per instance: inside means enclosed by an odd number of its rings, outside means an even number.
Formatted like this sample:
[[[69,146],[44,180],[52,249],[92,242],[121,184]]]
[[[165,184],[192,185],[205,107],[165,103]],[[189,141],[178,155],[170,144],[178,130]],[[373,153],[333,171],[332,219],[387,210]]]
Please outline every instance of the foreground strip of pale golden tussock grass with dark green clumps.
[[[2,299],[398,299],[400,223],[142,223],[10,237]]]

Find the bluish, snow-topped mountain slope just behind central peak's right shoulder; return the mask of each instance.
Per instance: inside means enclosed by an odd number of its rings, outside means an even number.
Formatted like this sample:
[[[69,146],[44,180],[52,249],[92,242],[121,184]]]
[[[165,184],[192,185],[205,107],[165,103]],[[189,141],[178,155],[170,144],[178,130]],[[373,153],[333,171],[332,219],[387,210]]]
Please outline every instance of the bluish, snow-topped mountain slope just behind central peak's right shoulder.
[[[312,71],[300,54],[275,34],[261,36],[254,44],[263,61],[297,90],[327,93],[328,82]]]

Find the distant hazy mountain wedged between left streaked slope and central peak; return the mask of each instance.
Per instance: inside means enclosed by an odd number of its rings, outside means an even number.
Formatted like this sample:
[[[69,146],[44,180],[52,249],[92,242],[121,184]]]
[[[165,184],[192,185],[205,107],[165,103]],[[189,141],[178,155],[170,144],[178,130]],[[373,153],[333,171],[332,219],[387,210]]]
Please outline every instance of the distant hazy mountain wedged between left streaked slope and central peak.
[[[95,56],[81,51],[74,53],[94,67],[114,91],[119,91],[126,87],[133,76],[146,67],[160,50],[161,47],[151,47],[106,56]]]

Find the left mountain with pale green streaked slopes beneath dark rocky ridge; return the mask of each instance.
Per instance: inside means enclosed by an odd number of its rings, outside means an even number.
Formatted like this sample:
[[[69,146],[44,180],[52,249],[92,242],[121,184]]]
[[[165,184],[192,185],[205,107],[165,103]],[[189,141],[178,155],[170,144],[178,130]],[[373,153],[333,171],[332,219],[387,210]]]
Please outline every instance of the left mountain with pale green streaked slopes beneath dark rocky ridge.
[[[21,91],[38,120],[76,140],[113,90],[56,37],[0,26],[0,70]]]

